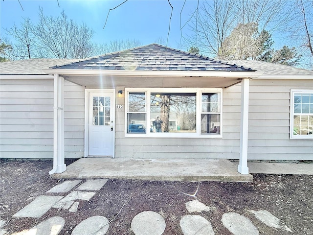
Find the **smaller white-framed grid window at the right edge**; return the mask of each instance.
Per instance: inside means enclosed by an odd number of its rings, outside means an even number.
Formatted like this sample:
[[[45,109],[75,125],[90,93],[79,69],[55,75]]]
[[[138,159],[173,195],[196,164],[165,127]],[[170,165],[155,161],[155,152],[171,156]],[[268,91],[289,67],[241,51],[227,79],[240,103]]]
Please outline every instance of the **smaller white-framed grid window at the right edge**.
[[[313,139],[313,90],[291,90],[291,139]]]

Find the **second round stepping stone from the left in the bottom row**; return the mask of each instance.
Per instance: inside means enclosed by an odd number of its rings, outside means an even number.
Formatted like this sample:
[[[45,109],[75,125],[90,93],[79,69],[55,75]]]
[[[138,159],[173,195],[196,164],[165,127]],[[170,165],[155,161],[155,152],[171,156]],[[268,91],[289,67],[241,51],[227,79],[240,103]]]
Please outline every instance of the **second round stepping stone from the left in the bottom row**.
[[[71,235],[105,235],[109,226],[110,223],[106,217],[92,216],[78,224]]]

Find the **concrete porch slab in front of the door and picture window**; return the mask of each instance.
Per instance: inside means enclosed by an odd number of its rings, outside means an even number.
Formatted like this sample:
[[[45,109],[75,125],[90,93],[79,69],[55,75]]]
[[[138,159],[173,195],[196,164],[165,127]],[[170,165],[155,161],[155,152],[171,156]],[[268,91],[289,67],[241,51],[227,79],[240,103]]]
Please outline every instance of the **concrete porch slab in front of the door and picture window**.
[[[81,158],[54,179],[140,179],[160,181],[252,182],[226,159]]]

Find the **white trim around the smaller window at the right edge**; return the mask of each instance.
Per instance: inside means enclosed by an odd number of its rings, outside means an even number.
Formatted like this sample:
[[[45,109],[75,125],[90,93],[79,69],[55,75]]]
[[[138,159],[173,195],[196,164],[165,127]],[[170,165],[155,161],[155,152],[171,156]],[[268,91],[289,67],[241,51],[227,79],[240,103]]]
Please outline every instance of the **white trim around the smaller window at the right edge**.
[[[313,90],[306,89],[291,89],[290,90],[290,130],[289,130],[289,138],[291,140],[312,140],[312,135],[294,135],[293,134],[293,114],[294,114],[294,94],[313,94]],[[310,114],[308,114],[310,115]]]

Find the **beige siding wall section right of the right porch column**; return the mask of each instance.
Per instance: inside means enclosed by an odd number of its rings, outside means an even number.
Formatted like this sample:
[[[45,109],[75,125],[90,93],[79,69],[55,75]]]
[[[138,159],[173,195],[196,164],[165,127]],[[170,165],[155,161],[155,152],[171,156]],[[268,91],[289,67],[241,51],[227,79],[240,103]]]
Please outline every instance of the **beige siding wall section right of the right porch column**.
[[[248,159],[313,160],[313,140],[291,140],[290,90],[313,89],[313,80],[252,80]]]

